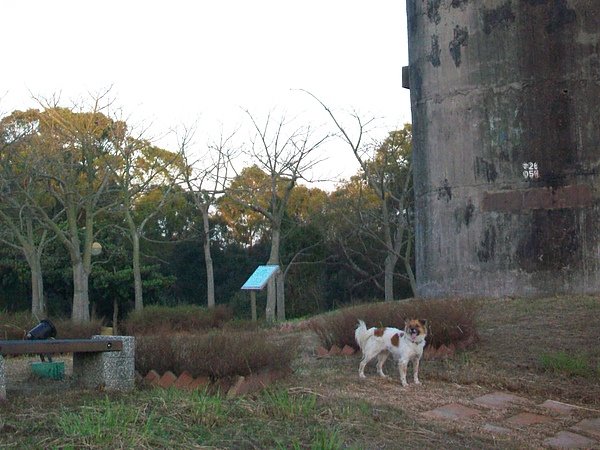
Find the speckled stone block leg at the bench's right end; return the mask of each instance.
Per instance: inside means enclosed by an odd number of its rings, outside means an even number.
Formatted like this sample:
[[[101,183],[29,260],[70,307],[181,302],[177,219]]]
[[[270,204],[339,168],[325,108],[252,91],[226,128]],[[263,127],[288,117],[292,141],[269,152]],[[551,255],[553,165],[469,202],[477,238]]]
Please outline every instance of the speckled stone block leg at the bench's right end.
[[[86,388],[130,391],[135,383],[135,338],[133,336],[92,336],[92,339],[119,339],[120,352],[73,353],[73,376]]]

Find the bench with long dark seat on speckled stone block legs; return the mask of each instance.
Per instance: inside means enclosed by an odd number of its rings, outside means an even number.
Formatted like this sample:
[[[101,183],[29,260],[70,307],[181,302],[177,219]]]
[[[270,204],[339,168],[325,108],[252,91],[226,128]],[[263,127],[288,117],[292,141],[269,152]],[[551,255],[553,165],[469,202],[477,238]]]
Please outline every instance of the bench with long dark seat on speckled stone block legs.
[[[84,387],[126,391],[135,379],[135,339],[93,336],[91,339],[0,340],[0,400],[6,399],[4,356],[73,354],[73,378]]]

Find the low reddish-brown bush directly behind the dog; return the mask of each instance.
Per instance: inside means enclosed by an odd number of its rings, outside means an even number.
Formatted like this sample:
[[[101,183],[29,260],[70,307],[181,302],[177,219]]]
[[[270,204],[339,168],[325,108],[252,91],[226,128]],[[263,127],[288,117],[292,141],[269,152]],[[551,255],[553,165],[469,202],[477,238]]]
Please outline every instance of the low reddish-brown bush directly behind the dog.
[[[475,314],[479,309],[473,300],[410,300],[364,304],[345,308],[310,321],[309,327],[317,333],[322,345],[358,349],[354,330],[358,319],[367,327],[396,327],[403,329],[406,319],[427,319],[427,344],[457,345],[478,339]]]

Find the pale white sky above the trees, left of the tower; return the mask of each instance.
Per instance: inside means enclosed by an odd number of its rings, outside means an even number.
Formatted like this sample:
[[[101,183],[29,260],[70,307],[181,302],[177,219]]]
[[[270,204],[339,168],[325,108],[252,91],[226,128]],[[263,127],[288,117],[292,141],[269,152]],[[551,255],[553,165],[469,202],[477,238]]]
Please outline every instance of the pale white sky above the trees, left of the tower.
[[[198,151],[221,130],[247,141],[243,110],[333,131],[298,89],[342,119],[377,118],[376,138],[411,121],[405,0],[4,0],[2,16],[2,114],[110,89],[128,124],[162,147],[195,124]],[[320,187],[356,173],[341,141],[321,151]]]

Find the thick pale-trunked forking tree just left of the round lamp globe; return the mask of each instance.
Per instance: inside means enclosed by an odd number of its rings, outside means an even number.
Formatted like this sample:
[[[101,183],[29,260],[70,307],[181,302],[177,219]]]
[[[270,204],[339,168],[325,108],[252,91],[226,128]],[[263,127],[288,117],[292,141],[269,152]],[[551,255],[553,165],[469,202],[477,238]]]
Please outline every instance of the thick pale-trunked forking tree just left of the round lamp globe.
[[[69,253],[72,318],[88,321],[94,219],[106,207],[103,195],[110,189],[107,165],[114,157],[123,124],[107,118],[99,107],[75,112],[54,106],[17,111],[4,126],[19,130],[20,136],[5,145],[2,179],[10,180],[21,207],[32,211]],[[39,188],[32,190],[32,185]]]

